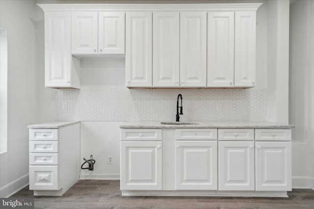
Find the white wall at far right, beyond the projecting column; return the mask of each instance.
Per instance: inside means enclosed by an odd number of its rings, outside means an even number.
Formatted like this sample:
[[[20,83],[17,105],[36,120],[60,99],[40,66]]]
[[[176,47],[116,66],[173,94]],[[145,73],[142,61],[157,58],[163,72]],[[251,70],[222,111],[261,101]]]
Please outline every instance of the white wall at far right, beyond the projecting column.
[[[289,123],[292,186],[314,188],[314,1],[290,6]]]

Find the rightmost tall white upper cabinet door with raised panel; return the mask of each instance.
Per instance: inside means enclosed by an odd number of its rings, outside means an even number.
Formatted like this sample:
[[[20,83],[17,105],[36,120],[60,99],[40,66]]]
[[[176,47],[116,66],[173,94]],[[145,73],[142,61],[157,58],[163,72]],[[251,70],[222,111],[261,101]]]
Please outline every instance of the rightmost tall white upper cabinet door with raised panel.
[[[235,87],[255,86],[256,12],[235,12]]]

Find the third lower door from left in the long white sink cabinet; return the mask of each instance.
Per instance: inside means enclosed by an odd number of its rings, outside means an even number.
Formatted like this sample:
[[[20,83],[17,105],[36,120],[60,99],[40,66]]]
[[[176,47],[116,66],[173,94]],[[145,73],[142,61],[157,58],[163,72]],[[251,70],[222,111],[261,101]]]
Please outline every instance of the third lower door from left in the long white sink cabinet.
[[[254,142],[218,142],[218,190],[254,190]]]

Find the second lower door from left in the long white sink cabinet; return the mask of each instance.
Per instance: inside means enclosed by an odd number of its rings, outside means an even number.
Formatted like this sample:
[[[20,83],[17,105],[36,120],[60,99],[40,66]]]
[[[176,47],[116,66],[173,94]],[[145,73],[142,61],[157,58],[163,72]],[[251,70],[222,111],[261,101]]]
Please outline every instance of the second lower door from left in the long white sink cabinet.
[[[217,190],[217,141],[176,141],[176,189]]]

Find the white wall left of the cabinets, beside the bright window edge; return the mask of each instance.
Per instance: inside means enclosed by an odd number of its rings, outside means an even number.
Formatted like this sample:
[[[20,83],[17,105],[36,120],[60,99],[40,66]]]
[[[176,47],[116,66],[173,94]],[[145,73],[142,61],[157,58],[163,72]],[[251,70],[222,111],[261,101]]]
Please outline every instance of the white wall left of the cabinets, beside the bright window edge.
[[[41,42],[35,1],[0,0],[0,26],[8,35],[8,148],[0,154],[0,197],[7,197],[28,183],[26,126],[53,121],[55,113],[53,99],[43,101],[52,90],[44,88],[44,66],[36,62],[43,55],[36,56]],[[51,103],[53,108],[47,108]],[[43,106],[45,110],[38,111]]]

